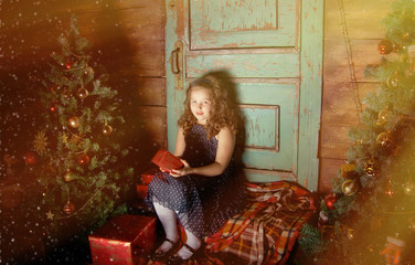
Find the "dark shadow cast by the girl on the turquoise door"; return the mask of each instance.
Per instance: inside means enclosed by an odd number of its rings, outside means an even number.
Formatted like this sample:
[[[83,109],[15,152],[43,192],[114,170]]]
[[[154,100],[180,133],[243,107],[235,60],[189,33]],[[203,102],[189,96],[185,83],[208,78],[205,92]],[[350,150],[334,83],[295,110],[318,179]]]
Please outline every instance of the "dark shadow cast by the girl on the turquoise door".
[[[235,109],[237,117],[238,117],[238,128],[237,128],[237,134],[236,134],[236,145],[235,145],[235,151],[234,151],[234,157],[236,160],[236,166],[237,166],[237,171],[238,176],[243,179],[243,181],[246,181],[246,176],[244,173],[244,165],[242,160],[242,156],[244,152],[245,148],[245,121],[246,117],[238,107],[240,104],[240,97],[237,94],[237,83],[234,82],[234,78],[232,77],[231,73],[228,70],[215,70],[208,72],[206,74],[211,74],[215,76],[217,80],[221,81],[222,85],[225,87],[227,91],[227,97],[228,100],[231,102],[231,106]]]

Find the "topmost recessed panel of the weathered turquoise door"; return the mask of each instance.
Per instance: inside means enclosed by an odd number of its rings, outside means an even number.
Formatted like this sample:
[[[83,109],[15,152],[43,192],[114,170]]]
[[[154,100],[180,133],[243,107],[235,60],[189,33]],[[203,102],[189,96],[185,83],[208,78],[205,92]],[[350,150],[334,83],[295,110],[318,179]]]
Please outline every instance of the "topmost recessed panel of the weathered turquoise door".
[[[190,1],[191,50],[296,45],[297,1]]]

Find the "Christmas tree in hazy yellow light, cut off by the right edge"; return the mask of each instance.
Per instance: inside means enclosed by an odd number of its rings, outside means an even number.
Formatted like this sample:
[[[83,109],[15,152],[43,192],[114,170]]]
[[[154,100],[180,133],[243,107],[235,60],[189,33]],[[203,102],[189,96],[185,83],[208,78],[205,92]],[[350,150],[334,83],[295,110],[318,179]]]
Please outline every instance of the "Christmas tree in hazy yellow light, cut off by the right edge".
[[[380,85],[349,131],[347,163],[300,246],[316,264],[415,264],[415,2],[383,20],[382,60],[365,74]]]

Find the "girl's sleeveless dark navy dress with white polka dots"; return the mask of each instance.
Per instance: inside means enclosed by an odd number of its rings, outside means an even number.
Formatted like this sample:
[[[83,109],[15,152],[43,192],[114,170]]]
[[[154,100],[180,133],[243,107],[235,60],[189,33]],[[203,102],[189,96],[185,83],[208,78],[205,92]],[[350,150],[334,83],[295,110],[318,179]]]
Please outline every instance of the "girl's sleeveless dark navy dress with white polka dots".
[[[194,125],[184,138],[183,159],[192,168],[215,161],[217,139],[206,138],[206,130]],[[189,174],[180,178],[158,172],[152,178],[145,202],[155,210],[156,202],[177,213],[181,225],[199,239],[216,232],[245,205],[245,190],[236,173],[234,158],[220,176]]]

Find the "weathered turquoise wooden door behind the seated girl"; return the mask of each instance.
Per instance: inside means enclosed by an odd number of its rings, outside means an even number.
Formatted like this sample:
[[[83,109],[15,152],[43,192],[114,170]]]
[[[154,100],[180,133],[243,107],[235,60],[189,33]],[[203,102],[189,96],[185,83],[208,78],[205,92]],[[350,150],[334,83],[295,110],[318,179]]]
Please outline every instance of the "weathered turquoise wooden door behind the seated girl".
[[[166,8],[169,149],[189,82],[226,70],[245,116],[247,179],[316,190],[323,0],[167,0]]]

